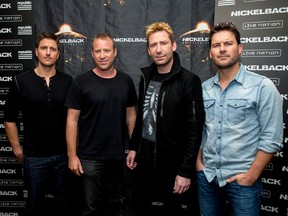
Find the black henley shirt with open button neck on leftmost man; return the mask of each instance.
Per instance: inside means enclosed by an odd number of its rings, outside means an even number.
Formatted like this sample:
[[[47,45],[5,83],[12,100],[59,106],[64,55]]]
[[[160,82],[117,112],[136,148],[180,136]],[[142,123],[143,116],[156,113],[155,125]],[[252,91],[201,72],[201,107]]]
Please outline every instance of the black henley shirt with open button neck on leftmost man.
[[[14,77],[6,101],[4,121],[17,122],[18,113],[22,110],[25,155],[66,153],[67,108],[64,102],[71,83],[72,77],[59,71],[50,78],[49,87],[45,78],[36,75],[34,70]]]

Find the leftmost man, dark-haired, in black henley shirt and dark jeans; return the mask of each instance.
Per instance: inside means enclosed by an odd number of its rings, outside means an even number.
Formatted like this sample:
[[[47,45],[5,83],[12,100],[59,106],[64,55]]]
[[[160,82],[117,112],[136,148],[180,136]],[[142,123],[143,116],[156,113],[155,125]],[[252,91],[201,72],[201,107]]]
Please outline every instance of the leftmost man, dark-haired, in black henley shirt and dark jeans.
[[[65,215],[64,193],[68,174],[65,139],[67,108],[64,102],[72,77],[56,70],[59,41],[55,34],[39,35],[36,56],[38,66],[16,75],[9,88],[4,114],[5,130],[16,160],[24,167],[28,189],[24,216],[43,215],[44,210],[40,207],[51,178],[56,201],[53,215],[62,216]],[[17,128],[20,110],[24,125],[23,150]]]

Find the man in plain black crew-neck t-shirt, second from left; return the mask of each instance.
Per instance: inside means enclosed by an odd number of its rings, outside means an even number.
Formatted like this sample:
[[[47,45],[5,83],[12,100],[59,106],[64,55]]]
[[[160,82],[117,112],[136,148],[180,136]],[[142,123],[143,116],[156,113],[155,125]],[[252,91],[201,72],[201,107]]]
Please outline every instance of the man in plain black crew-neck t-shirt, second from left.
[[[137,96],[132,79],[114,68],[112,37],[93,39],[96,67],[76,77],[65,105],[69,168],[81,176],[82,216],[119,215],[124,144],[136,119]]]

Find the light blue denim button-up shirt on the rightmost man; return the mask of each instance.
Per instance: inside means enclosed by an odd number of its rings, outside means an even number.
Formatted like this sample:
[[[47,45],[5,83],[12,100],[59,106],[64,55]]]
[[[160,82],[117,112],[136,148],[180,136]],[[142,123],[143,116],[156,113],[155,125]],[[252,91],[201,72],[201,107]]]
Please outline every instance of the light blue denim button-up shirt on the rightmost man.
[[[243,65],[225,90],[218,73],[202,87],[204,173],[209,182],[217,176],[222,187],[250,168],[258,150],[274,153],[283,147],[282,98],[270,79]]]

